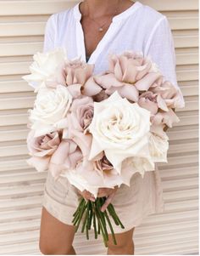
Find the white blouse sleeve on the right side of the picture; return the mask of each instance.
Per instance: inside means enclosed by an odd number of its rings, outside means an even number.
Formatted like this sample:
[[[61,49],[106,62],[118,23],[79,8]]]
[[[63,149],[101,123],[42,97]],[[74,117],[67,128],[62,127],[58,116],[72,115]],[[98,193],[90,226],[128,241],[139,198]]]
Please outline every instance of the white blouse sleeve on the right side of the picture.
[[[153,62],[157,63],[159,70],[164,75],[164,79],[173,83],[180,92],[179,107],[185,106],[185,100],[181,93],[181,88],[177,83],[175,72],[175,45],[169,21],[164,15],[154,26],[152,33],[147,41],[144,51],[145,55],[150,55]]]

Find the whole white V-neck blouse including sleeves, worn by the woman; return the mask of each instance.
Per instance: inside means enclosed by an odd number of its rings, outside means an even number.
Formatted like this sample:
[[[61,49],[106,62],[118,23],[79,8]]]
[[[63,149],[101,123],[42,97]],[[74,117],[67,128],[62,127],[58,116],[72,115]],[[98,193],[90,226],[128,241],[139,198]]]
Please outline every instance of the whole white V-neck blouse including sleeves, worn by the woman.
[[[79,4],[49,17],[43,52],[62,47],[69,59],[81,57],[81,60],[86,61]],[[125,50],[150,55],[165,79],[179,88],[175,74],[174,40],[169,21],[164,14],[136,1],[129,9],[114,16],[88,63],[95,64],[94,73],[106,71],[108,54],[120,54]],[[181,107],[184,106],[185,101],[181,94]]]

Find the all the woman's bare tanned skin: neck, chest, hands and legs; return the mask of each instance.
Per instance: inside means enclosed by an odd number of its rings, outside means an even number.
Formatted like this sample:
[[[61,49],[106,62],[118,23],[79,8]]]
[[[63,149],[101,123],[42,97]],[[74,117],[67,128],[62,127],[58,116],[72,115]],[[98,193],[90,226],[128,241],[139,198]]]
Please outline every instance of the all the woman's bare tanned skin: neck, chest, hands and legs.
[[[91,55],[95,48],[97,48],[97,44],[103,38],[106,31],[108,31],[113,16],[122,13],[125,9],[131,7],[132,4],[133,2],[130,0],[85,0],[80,4],[82,14],[81,25],[85,36],[87,56]],[[96,22],[93,20],[96,20]],[[104,24],[105,26],[103,26]],[[98,25],[103,26],[102,32],[98,31]],[[114,189],[99,189],[98,197],[107,196],[102,211],[112,202],[117,190],[117,186]],[[80,194],[87,200],[94,201],[95,199],[88,191],[80,191]],[[115,234],[117,245],[113,244],[112,236],[108,235],[108,254],[133,255],[134,243],[132,236],[134,230],[135,228],[132,228],[126,232]],[[74,236],[75,227],[73,225],[64,224],[48,213],[46,208],[42,207],[39,247],[43,254],[75,255],[75,249],[72,246]]]

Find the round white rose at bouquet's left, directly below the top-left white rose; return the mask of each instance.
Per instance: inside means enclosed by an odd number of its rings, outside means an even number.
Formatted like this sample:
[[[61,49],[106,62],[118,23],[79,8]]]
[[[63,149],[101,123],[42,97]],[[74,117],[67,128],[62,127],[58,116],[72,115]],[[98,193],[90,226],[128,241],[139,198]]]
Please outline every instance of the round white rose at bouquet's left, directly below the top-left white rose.
[[[34,109],[29,110],[31,128],[36,130],[35,137],[51,133],[62,128],[72,96],[67,88],[58,85],[57,88],[42,88],[39,90]]]

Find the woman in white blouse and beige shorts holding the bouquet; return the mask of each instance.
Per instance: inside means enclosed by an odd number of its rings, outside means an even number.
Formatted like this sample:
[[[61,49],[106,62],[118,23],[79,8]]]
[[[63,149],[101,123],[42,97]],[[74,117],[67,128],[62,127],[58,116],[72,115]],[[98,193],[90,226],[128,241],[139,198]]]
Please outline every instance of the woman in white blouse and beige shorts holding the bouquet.
[[[95,72],[108,68],[108,54],[125,50],[150,54],[167,80],[178,88],[175,75],[175,48],[166,16],[140,2],[130,0],[85,0],[47,20],[44,51],[63,47],[69,59],[81,56],[95,63]],[[184,101],[182,99],[182,104]],[[44,254],[75,254],[72,246],[75,227],[72,214],[79,198],[94,200],[88,191],[77,191],[66,179],[54,181],[47,174],[43,198],[40,250]],[[108,254],[134,254],[133,231],[151,213],[164,211],[163,189],[158,169],[142,179],[134,174],[131,186],[101,189],[108,196],[102,210],[112,202],[125,225],[114,225],[117,245],[108,242]]]

